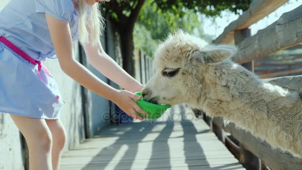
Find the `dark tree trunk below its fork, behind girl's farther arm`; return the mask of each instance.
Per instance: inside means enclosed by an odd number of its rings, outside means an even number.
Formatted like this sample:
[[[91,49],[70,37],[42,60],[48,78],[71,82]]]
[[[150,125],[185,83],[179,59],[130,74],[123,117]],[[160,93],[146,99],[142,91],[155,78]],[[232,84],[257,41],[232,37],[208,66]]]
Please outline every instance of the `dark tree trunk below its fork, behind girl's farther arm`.
[[[135,77],[134,70],[134,42],[133,42],[133,29],[126,28],[119,30],[120,43],[121,43],[121,53],[123,56],[123,69],[130,74],[132,77]]]

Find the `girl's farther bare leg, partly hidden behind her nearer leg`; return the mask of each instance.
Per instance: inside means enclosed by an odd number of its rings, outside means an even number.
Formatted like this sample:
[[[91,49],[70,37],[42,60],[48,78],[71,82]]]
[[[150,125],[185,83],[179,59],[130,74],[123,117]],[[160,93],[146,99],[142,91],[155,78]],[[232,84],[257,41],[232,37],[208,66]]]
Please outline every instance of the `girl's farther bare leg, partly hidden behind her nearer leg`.
[[[66,142],[66,132],[60,119],[45,119],[53,139],[52,166],[53,170],[59,170],[62,150]]]

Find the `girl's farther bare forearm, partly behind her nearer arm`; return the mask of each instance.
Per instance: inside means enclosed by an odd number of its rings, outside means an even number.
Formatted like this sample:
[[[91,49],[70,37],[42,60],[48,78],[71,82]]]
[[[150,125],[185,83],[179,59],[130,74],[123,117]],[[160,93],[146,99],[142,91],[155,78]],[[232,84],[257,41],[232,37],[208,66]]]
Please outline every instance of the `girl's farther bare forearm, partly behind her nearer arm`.
[[[90,34],[90,29],[87,27]],[[84,50],[87,55],[88,62],[104,76],[109,78],[114,83],[131,92],[141,91],[143,85],[125,72],[110,56],[108,56],[100,41],[93,46],[90,43],[84,45]]]

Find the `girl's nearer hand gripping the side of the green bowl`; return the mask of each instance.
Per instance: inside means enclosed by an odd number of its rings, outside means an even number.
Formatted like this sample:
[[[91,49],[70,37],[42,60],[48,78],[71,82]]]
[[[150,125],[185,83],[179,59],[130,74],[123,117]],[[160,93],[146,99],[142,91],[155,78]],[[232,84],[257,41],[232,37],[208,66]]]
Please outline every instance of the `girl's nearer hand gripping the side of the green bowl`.
[[[129,116],[143,120],[144,117],[140,116],[136,111],[149,116],[149,113],[145,112],[134,100],[141,99],[141,96],[133,94],[130,91],[118,90],[118,95],[113,100],[125,113]]]

